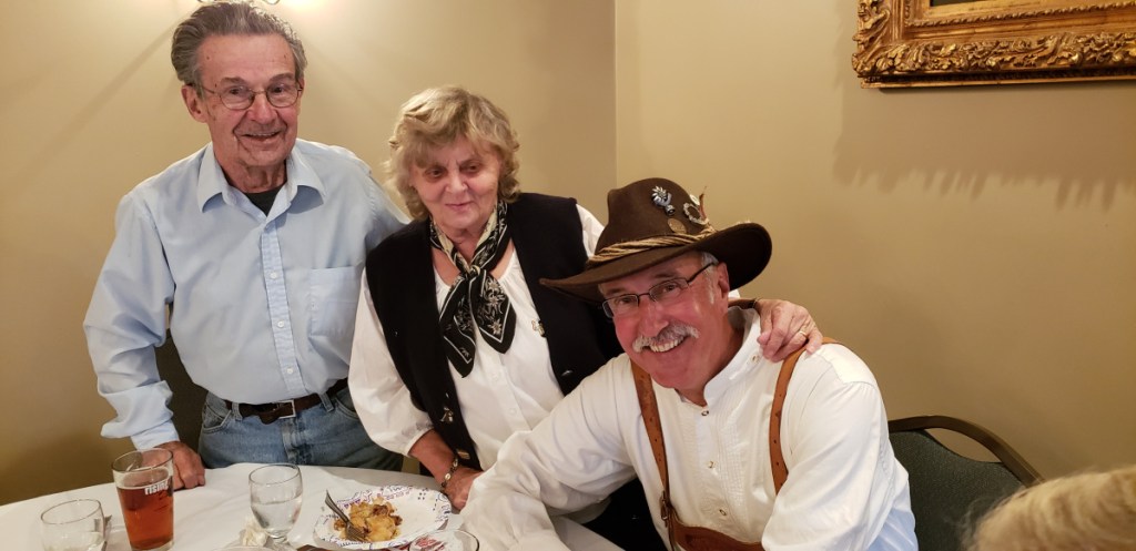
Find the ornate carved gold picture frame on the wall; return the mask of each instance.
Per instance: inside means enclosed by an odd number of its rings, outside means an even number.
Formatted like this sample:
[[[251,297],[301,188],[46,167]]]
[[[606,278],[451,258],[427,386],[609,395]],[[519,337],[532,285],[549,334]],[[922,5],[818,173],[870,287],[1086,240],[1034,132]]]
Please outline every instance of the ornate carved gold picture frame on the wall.
[[[857,0],[863,87],[1136,78],[1136,0]]]

